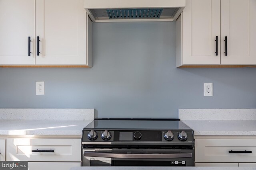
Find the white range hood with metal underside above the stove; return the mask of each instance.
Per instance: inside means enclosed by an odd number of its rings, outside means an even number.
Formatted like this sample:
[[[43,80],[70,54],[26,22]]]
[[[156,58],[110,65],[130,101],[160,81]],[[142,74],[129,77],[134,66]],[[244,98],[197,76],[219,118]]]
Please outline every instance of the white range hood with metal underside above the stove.
[[[176,21],[186,0],[84,0],[93,22]]]

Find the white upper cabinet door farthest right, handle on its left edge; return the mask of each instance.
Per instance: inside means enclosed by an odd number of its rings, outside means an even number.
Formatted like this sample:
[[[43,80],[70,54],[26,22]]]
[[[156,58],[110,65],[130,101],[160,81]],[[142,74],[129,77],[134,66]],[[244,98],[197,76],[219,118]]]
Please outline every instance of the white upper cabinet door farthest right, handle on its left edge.
[[[221,64],[256,64],[255,16],[256,0],[221,0]]]

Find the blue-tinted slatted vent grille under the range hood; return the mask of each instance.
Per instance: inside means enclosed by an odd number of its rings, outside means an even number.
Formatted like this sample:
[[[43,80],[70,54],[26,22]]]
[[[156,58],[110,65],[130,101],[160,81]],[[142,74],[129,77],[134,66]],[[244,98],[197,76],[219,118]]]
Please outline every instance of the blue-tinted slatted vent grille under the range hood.
[[[107,9],[109,19],[160,18],[163,8]]]

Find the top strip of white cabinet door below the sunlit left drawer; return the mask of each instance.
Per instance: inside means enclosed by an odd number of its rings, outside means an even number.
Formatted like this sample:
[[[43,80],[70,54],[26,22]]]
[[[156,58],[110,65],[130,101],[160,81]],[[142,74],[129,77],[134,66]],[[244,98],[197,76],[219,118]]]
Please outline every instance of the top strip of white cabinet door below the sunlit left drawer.
[[[80,162],[28,162],[28,170],[70,170],[78,166]]]

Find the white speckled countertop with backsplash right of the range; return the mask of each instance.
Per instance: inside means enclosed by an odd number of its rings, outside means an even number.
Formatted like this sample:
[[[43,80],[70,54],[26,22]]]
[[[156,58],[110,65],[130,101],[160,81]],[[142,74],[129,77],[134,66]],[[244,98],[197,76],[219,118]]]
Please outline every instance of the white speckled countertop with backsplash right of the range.
[[[195,135],[256,135],[256,109],[179,109]]]

